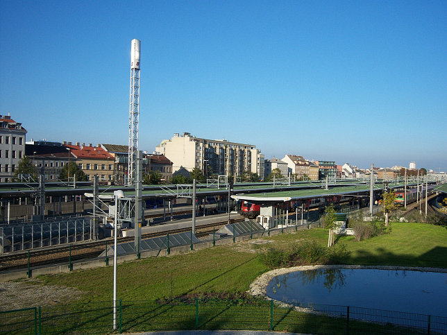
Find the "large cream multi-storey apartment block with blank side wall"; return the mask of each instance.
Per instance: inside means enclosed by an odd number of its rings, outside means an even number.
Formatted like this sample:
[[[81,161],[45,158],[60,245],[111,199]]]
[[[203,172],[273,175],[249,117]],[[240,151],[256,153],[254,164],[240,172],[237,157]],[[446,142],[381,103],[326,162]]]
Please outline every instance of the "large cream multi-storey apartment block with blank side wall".
[[[164,139],[155,148],[173,162],[173,172],[185,167],[188,171],[200,169],[209,175],[241,176],[244,172],[255,172],[260,178],[264,166],[261,153],[252,144],[231,142],[226,139],[203,139],[189,132],[174,134]]]

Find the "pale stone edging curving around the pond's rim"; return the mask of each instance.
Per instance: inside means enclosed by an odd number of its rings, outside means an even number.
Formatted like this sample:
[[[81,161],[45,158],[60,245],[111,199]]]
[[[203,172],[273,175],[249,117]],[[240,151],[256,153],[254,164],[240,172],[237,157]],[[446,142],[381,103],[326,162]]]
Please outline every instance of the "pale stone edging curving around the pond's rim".
[[[417,268],[414,266],[361,266],[361,265],[305,265],[294,266],[293,268],[276,268],[275,270],[263,273],[256,278],[251,284],[248,293],[255,297],[267,298],[267,285],[277,275],[284,275],[285,273],[291,273],[295,271],[315,270],[319,268],[366,268],[377,270],[409,270],[409,271],[422,271],[422,272],[438,272],[447,273],[447,268]]]

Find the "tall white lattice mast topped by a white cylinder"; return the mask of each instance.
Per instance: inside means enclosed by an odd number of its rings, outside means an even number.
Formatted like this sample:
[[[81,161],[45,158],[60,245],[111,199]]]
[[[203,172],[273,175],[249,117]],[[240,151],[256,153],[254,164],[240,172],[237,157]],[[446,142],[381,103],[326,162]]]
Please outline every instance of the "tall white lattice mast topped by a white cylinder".
[[[130,108],[129,108],[129,151],[128,185],[135,184],[135,166],[138,151],[138,121],[140,119],[140,40],[132,40],[130,50]]]

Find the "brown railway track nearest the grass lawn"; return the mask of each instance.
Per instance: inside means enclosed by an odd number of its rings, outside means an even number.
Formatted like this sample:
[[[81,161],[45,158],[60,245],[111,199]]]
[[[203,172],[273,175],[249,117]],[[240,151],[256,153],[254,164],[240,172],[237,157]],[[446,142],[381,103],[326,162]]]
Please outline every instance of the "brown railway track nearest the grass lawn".
[[[243,219],[236,219],[243,221]],[[226,225],[228,221],[219,221],[208,225],[196,227],[196,237],[205,237],[212,230],[218,229]],[[162,237],[167,233],[178,234],[180,232],[189,232],[191,228],[180,228],[169,230],[169,232],[155,232],[150,234],[142,234],[142,239],[151,239],[153,237]],[[119,237],[118,243],[126,243],[134,241],[134,237]],[[106,247],[111,246],[113,239],[105,239],[101,241],[83,242],[71,245],[56,246],[53,248],[43,248],[38,250],[28,250],[28,252],[16,252],[0,255],[0,271],[17,270],[28,267],[28,257],[30,267],[42,267],[52,264],[68,264],[69,261],[76,262],[87,259],[93,259],[101,255]]]

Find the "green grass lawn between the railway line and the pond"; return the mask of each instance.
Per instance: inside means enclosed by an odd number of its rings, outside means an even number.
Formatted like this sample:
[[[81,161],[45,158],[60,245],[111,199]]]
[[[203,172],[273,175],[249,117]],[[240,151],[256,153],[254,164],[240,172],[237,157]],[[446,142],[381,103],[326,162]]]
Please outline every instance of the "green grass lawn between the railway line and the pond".
[[[446,227],[423,223],[392,223],[391,232],[366,241],[341,237],[350,255],[340,264],[430,266],[447,268]],[[327,245],[328,230],[322,228],[264,237],[262,246],[288,248],[291,243],[312,239]],[[253,241],[232,243],[169,257],[141,259],[118,266],[118,298],[152,300],[209,292],[237,293],[269,270],[255,252]],[[85,292],[82,302],[112,300],[113,268],[78,270],[40,277],[46,284],[72,286]]]

